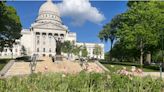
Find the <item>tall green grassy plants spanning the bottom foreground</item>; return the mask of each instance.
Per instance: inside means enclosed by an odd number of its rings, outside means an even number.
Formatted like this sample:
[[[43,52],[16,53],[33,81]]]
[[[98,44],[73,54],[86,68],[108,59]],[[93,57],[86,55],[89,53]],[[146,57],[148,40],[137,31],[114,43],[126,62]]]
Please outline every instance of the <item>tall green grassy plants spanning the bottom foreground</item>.
[[[0,80],[1,92],[160,92],[163,80],[118,75],[80,73],[78,75],[33,74]]]

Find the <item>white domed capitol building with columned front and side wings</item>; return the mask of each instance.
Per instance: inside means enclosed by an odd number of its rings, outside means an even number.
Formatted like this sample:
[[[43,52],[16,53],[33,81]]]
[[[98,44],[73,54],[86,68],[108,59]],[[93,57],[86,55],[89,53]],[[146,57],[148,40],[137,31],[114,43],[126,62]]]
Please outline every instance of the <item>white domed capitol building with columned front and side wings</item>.
[[[74,42],[75,45],[85,45],[88,51],[88,57],[94,58],[93,50],[97,43],[80,43],[77,42],[76,33],[69,32],[67,27],[63,25],[60,18],[60,12],[57,6],[48,0],[43,3],[39,9],[38,16],[29,29],[22,29],[22,37],[17,40],[17,44],[13,45],[12,52],[9,48],[5,48],[0,52],[1,58],[21,56],[22,47],[26,49],[27,55],[38,54],[39,56],[56,55],[56,41]],[[102,48],[102,54],[99,59],[104,59],[104,44],[97,44]]]

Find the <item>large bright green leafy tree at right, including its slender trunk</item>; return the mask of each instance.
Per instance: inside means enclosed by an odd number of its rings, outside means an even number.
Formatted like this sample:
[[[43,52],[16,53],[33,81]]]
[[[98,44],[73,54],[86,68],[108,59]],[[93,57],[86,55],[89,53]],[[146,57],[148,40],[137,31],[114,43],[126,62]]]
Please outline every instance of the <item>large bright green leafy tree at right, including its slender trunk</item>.
[[[129,1],[128,10],[111,21],[114,28],[109,25],[109,28],[116,30],[116,37],[125,45],[124,49],[136,49],[140,52],[141,66],[144,53],[153,52],[157,47],[159,32],[164,27],[161,13],[163,9],[159,7],[161,3],[164,2]]]

